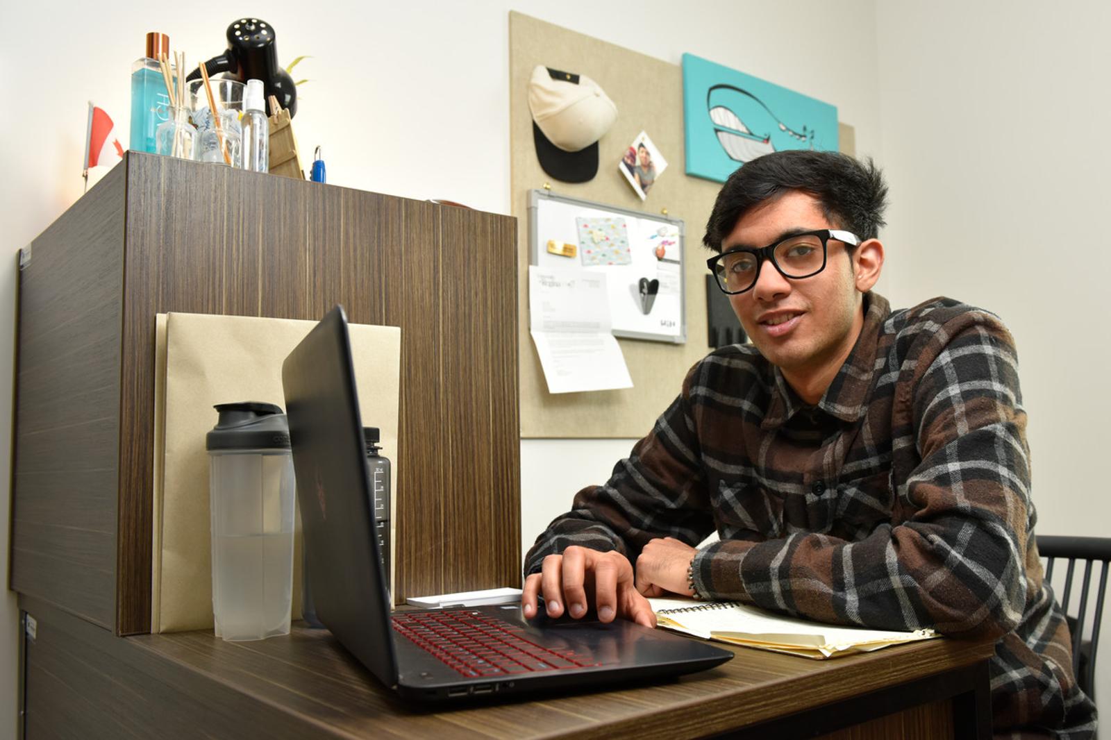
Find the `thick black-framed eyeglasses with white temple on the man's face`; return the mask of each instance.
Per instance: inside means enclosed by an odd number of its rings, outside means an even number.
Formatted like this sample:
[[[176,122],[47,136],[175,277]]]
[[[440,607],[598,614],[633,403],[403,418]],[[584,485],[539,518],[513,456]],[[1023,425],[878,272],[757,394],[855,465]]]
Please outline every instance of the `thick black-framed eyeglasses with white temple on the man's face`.
[[[825,244],[830,239],[852,247],[860,246],[860,239],[851,231],[820,229],[795,233],[760,249],[730,249],[714,254],[705,263],[718,279],[718,287],[722,292],[735,296],[757,284],[760,266],[764,260],[774,264],[779,273],[790,280],[818,274],[825,269]]]

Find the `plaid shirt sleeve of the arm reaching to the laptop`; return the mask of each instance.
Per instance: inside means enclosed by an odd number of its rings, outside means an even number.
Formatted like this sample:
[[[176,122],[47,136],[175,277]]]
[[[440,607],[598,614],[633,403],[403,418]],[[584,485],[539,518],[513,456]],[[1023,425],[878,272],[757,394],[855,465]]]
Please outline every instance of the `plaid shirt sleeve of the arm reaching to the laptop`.
[[[617,550],[635,563],[651,539],[673,537],[695,546],[710,533],[713,517],[689,402],[698,367],[652,431],[614,466],[610,480],[579,491],[572,510],[537,538],[524,558],[526,576],[539,572],[544,557],[572,544]]]

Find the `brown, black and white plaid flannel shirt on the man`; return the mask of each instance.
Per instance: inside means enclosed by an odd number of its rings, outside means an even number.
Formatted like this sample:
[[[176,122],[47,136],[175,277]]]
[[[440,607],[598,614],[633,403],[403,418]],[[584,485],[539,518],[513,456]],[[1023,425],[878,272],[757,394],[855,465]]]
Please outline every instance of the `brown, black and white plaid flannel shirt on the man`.
[[[719,349],[526,558],[674,537],[699,593],[877,629],[999,638],[997,731],[1090,738],[1092,702],[1033,538],[1025,412],[999,319],[949,299],[891,312],[875,293],[849,359],[807,406],[751,344]]]

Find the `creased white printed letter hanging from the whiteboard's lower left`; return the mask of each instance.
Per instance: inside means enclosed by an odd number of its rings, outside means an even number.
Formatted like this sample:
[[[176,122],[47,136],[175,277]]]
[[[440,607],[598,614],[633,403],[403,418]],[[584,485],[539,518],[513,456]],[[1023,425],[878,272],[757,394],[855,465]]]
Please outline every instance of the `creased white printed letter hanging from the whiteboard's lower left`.
[[[529,317],[548,392],[632,388],[610,333],[604,273],[529,266]]]

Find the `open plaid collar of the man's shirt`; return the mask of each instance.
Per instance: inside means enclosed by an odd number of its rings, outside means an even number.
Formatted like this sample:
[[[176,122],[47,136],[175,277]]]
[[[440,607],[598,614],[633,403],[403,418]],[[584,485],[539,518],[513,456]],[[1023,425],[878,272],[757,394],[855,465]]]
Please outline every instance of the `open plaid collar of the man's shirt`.
[[[869,291],[864,293],[864,326],[844,364],[838,370],[830,387],[822,393],[817,408],[842,421],[857,421],[868,410],[869,390],[875,374],[875,354],[880,329],[891,313],[888,300]],[[808,407],[783,378],[778,367],[772,367],[771,402],[760,428],[775,429]]]

